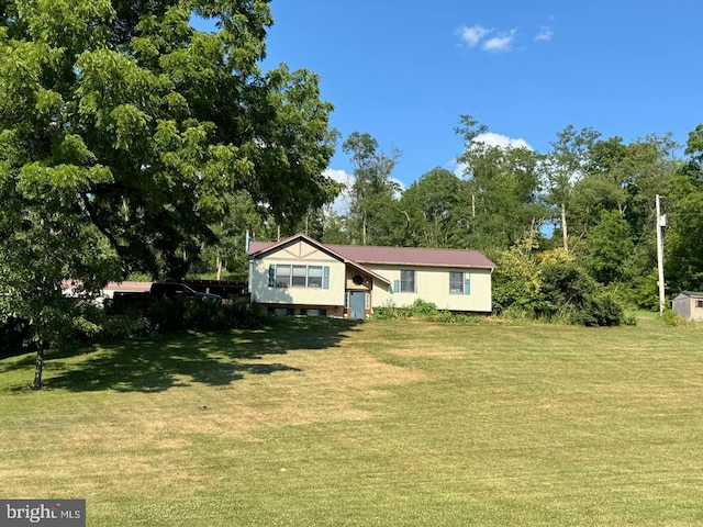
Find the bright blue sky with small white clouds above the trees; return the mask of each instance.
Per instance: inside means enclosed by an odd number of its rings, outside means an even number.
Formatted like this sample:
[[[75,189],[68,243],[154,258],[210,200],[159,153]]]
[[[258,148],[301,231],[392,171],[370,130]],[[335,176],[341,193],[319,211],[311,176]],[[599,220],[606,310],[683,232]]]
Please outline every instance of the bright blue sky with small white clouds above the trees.
[[[567,125],[628,143],[703,123],[700,0],[272,0],[263,69],[321,77],[339,131],[327,173],[352,172],[342,142],[369,133],[402,152],[408,188],[456,169],[461,114],[492,144],[540,153]]]

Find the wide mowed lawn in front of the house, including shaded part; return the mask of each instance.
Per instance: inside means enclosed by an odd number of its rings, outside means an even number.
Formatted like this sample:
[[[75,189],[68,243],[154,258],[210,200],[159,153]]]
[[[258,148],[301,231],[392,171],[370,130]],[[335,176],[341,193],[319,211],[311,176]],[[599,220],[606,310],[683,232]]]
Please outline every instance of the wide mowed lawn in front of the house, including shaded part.
[[[0,360],[0,497],[96,526],[703,525],[703,327],[294,319]]]

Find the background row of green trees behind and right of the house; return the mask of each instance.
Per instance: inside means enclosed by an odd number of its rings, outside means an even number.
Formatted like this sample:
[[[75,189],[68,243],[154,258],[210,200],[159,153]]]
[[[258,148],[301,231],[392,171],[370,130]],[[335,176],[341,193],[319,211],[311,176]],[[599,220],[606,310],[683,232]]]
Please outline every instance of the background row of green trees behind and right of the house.
[[[544,313],[535,305],[539,294],[531,306],[529,291],[539,290],[545,266],[556,261],[621,305],[656,310],[660,195],[667,293],[703,289],[703,125],[685,145],[670,134],[626,143],[569,125],[544,153],[488,145],[488,127],[469,115],[456,132],[465,144],[461,172],[437,167],[405,190],[392,179],[401,153],[382,152],[368,133],[350,134],[342,143],[354,171],[348,213],[326,204],[281,227],[242,211],[228,223],[230,268],[244,278],[245,228],[268,239],[305,232],[334,244],[481,250],[499,265],[499,312]],[[239,206],[246,202],[242,197]]]

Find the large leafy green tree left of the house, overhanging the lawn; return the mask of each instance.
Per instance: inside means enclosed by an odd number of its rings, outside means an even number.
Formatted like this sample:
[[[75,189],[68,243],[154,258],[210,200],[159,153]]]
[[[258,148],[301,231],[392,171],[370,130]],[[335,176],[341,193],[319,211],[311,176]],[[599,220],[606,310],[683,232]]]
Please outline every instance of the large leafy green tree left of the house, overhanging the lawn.
[[[261,72],[271,24],[268,0],[0,0],[0,316],[38,321],[64,279],[181,277],[235,191],[282,223],[331,201],[332,106]]]

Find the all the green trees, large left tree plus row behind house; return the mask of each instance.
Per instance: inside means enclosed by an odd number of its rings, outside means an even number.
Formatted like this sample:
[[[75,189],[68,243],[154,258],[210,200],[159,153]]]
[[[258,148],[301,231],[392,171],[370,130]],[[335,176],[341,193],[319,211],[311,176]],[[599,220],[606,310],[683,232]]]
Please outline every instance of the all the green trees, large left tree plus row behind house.
[[[462,116],[465,172],[436,168],[404,191],[401,153],[354,133],[349,212],[336,213],[333,105],[306,69],[261,70],[268,3],[0,0],[0,329],[31,328],[36,388],[46,346],[104,329],[89,300],[108,281],[245,279],[247,231],[479,249],[499,265],[498,311],[555,316],[578,298],[600,311],[580,322],[601,324],[616,310],[599,288],[654,305],[660,194],[668,290],[703,289],[701,126],[683,157],[670,136],[572,126],[537,153],[488,146]]]

